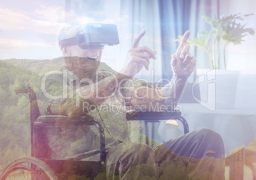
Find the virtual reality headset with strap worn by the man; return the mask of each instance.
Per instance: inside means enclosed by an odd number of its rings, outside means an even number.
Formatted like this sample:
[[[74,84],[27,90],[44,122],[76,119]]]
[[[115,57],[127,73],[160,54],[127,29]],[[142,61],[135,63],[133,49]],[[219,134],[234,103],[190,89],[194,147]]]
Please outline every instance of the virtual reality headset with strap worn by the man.
[[[63,39],[59,42],[60,48],[77,44],[82,49],[119,44],[117,25],[104,23],[88,23],[85,28],[78,31],[76,37]]]

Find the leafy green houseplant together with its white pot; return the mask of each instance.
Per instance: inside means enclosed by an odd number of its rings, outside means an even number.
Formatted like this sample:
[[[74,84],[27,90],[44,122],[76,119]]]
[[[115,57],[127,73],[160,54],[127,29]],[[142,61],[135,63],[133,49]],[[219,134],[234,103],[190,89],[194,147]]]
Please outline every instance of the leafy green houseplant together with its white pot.
[[[239,73],[234,73],[226,70],[227,63],[225,51],[227,46],[231,44],[231,42],[234,45],[241,44],[241,42],[245,41],[243,40],[243,37],[245,37],[245,35],[254,34],[254,30],[252,28],[245,27],[246,23],[242,24],[245,18],[251,15],[252,14],[241,15],[239,13],[229,16],[222,15],[218,18],[217,16],[214,16],[214,18],[210,18],[206,15],[201,15],[203,20],[211,25],[212,30],[201,32],[197,34],[196,38],[190,38],[187,41],[188,44],[203,48],[209,56],[212,70],[203,71],[202,74],[204,75],[204,80],[206,79],[204,81],[205,83],[198,82],[197,79],[193,86],[199,84],[200,92],[204,96],[204,98],[202,98],[201,96],[201,104],[207,106],[209,100],[211,102],[214,102],[214,106],[211,106],[211,110],[215,110],[215,105],[219,106],[220,108],[234,107]],[[180,41],[181,37],[182,36],[178,36],[177,41]],[[224,70],[216,71],[216,69],[220,69],[221,64],[224,65]],[[199,69],[197,69],[197,75],[199,74]],[[214,94],[209,94],[209,77],[210,79],[215,79],[216,91],[211,91]],[[203,101],[202,99],[205,99],[205,96],[207,96],[207,100]]]

